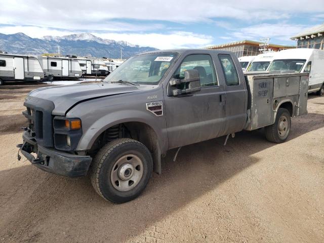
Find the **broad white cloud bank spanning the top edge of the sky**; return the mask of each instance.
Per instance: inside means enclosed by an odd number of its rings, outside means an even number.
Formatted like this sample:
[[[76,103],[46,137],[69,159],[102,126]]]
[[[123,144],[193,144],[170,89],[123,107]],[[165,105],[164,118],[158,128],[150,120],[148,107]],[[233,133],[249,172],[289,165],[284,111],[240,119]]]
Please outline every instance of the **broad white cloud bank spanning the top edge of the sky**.
[[[0,23],[15,25],[37,25],[69,29],[97,30],[113,28],[112,20],[158,20],[172,22],[209,22],[212,18],[233,18],[247,23],[262,20],[287,19],[303,13],[324,12],[324,2],[313,0],[311,4],[297,4],[296,1],[273,0],[262,5],[260,1],[205,0],[198,4],[187,0],[2,0],[0,2]],[[124,23],[124,29],[131,30],[138,23]],[[123,25],[119,23],[119,25]],[[123,26],[121,26],[123,28]],[[142,27],[149,28],[149,24]],[[153,26],[160,27],[160,26]]]

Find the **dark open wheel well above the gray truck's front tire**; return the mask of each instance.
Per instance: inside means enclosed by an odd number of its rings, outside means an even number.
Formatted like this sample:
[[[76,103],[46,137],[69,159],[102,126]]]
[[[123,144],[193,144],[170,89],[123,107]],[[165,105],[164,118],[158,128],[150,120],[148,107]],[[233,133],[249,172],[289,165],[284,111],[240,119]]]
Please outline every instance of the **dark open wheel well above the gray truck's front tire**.
[[[117,138],[131,138],[143,143],[152,154],[154,172],[161,173],[161,152],[158,138],[154,130],[145,123],[132,121],[106,129],[95,140],[88,154],[94,156],[105,144]]]

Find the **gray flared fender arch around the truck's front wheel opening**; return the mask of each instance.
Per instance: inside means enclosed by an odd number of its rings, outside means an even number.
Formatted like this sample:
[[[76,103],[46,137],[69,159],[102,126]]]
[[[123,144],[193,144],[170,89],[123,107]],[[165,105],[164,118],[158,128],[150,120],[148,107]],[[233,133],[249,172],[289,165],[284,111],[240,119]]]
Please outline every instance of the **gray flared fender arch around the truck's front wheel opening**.
[[[91,124],[91,126],[83,131],[83,136],[80,139],[76,150],[91,149],[95,140],[106,129],[117,124],[133,121],[143,123],[151,127],[159,141],[160,150],[166,151],[166,148],[168,147],[167,130],[165,127],[162,129],[159,127],[160,123],[156,122],[157,119],[164,119],[164,117],[156,117],[152,113],[139,110],[120,110],[108,113],[97,119],[93,124]]]

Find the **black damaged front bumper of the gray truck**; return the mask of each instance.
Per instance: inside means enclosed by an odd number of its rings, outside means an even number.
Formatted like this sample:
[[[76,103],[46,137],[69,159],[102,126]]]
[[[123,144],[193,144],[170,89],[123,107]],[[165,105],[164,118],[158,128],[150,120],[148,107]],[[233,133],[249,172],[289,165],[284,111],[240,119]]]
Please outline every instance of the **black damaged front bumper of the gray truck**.
[[[54,174],[79,177],[85,176],[89,170],[92,158],[86,155],[75,155],[52,148],[37,145],[36,139],[27,132],[23,134],[21,153],[39,169]],[[31,153],[37,154],[35,158]]]

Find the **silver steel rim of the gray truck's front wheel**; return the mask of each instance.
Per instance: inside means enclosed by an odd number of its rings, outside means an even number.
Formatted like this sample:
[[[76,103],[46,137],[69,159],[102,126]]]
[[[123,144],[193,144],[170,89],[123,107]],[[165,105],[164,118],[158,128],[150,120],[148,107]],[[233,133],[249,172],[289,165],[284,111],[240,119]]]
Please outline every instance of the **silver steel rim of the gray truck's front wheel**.
[[[112,186],[118,191],[133,189],[143,177],[143,162],[135,154],[126,154],[117,159],[110,173]]]

